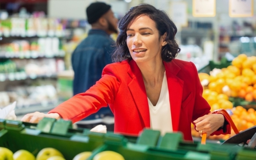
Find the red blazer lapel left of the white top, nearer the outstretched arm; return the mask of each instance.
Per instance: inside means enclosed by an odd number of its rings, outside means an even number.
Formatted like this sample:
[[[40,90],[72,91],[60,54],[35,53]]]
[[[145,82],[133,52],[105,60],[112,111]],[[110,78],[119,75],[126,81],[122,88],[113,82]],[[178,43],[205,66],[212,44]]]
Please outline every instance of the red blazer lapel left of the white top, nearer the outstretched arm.
[[[145,84],[142,78],[139,67],[134,60],[129,61],[130,68],[127,73],[131,76],[132,80],[128,84],[128,88],[132,94],[132,98],[140,113],[140,119],[143,121],[144,126],[150,128],[150,115],[148,107],[148,97],[146,93]]]

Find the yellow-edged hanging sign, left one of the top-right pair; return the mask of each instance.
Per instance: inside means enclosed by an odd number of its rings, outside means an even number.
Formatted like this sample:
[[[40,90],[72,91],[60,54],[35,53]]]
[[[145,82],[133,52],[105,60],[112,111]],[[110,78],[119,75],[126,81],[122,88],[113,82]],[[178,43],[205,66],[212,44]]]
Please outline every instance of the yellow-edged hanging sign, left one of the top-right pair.
[[[193,0],[192,10],[194,17],[214,17],[216,15],[216,1]]]

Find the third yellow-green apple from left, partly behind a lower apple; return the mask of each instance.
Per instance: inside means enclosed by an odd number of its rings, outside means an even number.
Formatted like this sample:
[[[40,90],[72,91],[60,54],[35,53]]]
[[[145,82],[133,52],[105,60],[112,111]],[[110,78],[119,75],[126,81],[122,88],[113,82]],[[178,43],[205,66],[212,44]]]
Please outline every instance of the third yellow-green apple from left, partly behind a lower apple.
[[[55,148],[44,148],[36,156],[36,160],[47,160],[52,156],[61,156],[64,157],[60,151]]]

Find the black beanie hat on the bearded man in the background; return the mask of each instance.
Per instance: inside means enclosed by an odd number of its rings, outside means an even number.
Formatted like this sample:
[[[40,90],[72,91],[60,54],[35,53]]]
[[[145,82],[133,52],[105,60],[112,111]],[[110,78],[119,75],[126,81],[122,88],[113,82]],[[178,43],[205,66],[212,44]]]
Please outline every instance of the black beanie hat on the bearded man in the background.
[[[97,20],[99,20],[103,14],[108,12],[110,7],[111,7],[110,5],[105,4],[103,2],[95,2],[95,3],[90,4],[86,8],[88,23],[92,24],[92,23],[96,22]]]

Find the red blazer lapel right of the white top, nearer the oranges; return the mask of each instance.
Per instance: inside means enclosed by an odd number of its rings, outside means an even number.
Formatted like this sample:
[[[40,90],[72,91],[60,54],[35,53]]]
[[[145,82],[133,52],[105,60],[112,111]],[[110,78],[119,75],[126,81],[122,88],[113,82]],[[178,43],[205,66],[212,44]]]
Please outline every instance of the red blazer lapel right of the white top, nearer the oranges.
[[[174,62],[174,60],[168,63],[164,62],[164,66],[166,70],[166,78],[170,97],[172,130],[178,131],[184,81],[176,76],[180,71],[180,67]]]

